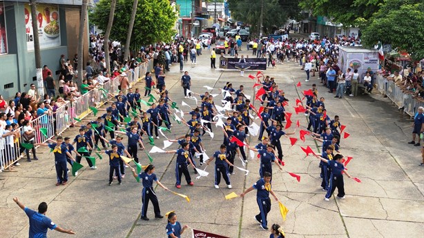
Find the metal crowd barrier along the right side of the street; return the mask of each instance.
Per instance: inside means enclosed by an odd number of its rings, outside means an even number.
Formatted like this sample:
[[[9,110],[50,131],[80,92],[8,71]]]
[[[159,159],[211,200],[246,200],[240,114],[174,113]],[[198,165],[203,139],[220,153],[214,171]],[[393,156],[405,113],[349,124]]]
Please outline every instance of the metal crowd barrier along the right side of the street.
[[[416,112],[418,112],[418,108],[420,106],[424,106],[424,103],[414,99],[412,94],[404,93],[401,88],[396,86],[394,81],[387,81],[387,79],[383,78],[383,76],[377,75],[376,82],[377,90],[387,95],[387,97],[392,100],[396,106],[404,108],[403,112],[410,117],[414,117]]]

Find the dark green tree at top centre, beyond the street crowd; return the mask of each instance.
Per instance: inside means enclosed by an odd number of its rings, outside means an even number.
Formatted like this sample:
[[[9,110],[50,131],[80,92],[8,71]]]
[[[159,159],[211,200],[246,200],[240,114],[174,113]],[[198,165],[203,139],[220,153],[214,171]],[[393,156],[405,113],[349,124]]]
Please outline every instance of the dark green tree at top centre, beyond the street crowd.
[[[263,1],[263,30],[265,34],[270,34],[273,33],[273,30],[277,30],[285,24],[288,14],[278,0]],[[231,10],[231,17],[237,21],[249,23],[251,25],[250,32],[258,32],[259,34],[261,1],[230,0],[228,3]]]

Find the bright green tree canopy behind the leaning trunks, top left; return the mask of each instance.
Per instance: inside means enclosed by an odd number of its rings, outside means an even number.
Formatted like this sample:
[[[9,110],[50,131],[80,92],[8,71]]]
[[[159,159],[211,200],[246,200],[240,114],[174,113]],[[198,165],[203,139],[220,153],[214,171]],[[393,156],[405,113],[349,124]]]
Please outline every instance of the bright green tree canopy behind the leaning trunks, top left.
[[[131,50],[157,41],[170,41],[175,34],[173,26],[177,17],[167,0],[139,0],[135,14]],[[117,0],[110,39],[125,43],[126,31],[131,17],[133,0]],[[105,31],[108,25],[109,0],[100,0],[90,12],[90,21]]]

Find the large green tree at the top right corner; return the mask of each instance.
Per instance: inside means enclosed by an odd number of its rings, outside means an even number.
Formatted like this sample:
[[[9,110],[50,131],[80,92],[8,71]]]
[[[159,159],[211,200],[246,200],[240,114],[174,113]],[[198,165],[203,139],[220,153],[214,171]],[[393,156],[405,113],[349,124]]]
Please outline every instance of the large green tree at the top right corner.
[[[381,41],[406,50],[414,59],[424,58],[423,1],[389,0],[364,23],[361,39],[365,46]]]

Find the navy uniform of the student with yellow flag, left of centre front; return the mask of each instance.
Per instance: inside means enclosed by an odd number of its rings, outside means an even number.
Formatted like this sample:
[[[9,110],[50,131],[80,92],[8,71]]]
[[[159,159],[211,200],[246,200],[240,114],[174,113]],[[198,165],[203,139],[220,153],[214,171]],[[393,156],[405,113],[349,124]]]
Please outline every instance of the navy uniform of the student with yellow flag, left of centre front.
[[[138,175],[140,179],[142,179],[143,190],[142,190],[142,217],[146,217],[148,201],[152,201],[153,209],[155,210],[155,216],[160,216],[160,208],[159,202],[157,201],[157,197],[155,194],[155,190],[153,190],[153,181],[157,181],[157,177],[155,174],[149,175],[147,172],[142,172]]]

